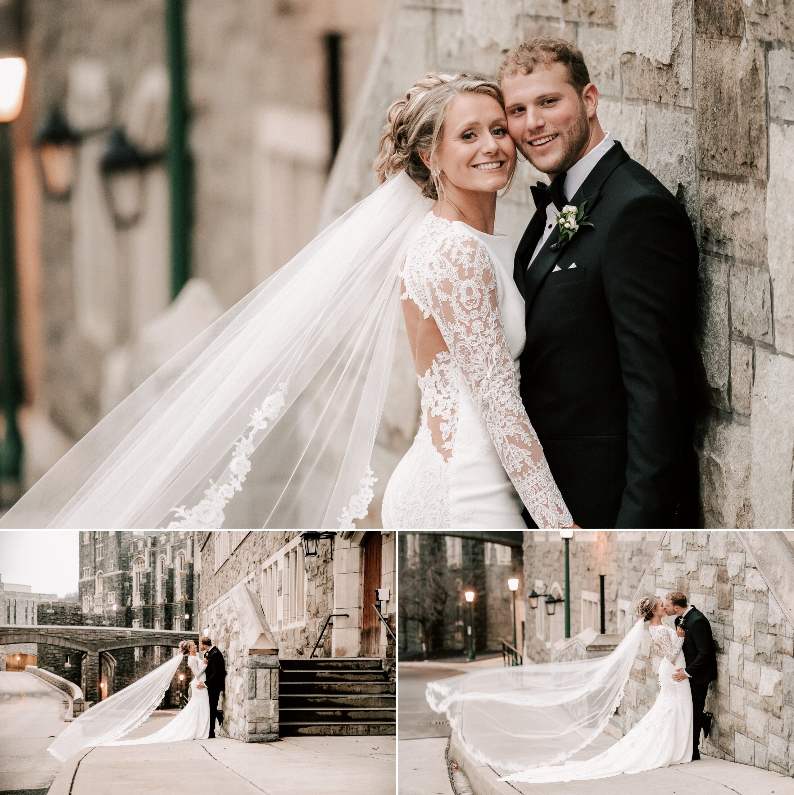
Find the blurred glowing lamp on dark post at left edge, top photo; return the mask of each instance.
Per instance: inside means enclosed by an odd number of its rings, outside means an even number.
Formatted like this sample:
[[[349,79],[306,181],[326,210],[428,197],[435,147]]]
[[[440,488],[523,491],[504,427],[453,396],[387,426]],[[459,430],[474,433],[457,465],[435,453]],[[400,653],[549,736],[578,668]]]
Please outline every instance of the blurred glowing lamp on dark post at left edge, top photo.
[[[6,421],[5,438],[0,444],[0,483],[10,486],[14,496],[21,475],[22,436],[17,425],[21,374],[17,348],[14,164],[10,126],[22,108],[26,72],[24,58],[0,58],[0,401]]]

